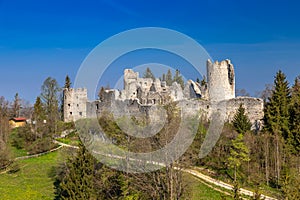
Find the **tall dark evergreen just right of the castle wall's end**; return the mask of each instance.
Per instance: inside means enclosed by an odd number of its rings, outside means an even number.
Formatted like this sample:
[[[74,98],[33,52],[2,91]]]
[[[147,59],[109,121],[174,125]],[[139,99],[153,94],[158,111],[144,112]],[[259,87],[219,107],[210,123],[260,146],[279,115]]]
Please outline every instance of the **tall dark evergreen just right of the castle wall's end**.
[[[274,80],[274,90],[265,106],[265,128],[279,134],[285,140],[291,139],[289,130],[290,89],[286,76],[277,72]]]

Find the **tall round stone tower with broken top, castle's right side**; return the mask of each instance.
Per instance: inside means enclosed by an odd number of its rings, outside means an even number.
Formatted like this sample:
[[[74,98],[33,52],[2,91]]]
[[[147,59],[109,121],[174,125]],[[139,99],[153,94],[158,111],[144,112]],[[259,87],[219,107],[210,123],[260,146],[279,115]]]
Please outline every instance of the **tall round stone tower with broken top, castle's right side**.
[[[212,63],[207,60],[207,84],[210,101],[235,98],[234,69],[230,60]]]

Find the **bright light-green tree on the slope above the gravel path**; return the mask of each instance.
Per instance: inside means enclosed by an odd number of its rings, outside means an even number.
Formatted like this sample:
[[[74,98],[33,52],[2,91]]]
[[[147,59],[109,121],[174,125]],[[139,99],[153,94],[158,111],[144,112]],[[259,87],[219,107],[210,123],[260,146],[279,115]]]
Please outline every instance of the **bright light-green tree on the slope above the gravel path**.
[[[234,169],[234,181],[236,182],[236,174],[238,168],[241,166],[242,162],[249,161],[249,149],[244,144],[243,134],[238,134],[237,137],[232,140],[230,156],[228,158],[228,164]]]

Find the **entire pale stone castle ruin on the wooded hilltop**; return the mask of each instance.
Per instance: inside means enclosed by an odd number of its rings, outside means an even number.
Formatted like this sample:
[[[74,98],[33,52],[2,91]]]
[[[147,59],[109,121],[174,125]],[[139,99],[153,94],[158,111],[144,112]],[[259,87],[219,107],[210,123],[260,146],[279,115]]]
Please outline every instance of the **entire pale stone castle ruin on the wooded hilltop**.
[[[124,70],[124,89],[105,90],[101,100],[89,101],[86,89],[65,88],[64,121],[97,117],[97,113],[110,110],[118,104],[122,104],[123,111],[138,114],[169,101],[184,104],[186,110],[201,109],[208,119],[214,109],[212,105],[219,102],[226,105],[227,121],[233,119],[240,104],[243,104],[252,124],[263,118],[262,99],[235,96],[235,73],[230,60],[208,60],[206,67],[207,83],[188,80],[184,88],[177,82],[168,86],[159,79],[140,78],[139,73],[131,69]]]

